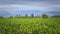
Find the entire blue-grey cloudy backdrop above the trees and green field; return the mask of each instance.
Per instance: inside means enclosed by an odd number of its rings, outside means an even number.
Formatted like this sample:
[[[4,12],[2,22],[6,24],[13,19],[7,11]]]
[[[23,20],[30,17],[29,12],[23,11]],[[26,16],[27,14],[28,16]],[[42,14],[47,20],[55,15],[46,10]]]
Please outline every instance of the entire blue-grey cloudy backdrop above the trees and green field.
[[[60,15],[60,0],[0,0],[0,16]]]

